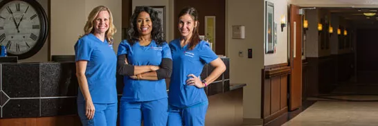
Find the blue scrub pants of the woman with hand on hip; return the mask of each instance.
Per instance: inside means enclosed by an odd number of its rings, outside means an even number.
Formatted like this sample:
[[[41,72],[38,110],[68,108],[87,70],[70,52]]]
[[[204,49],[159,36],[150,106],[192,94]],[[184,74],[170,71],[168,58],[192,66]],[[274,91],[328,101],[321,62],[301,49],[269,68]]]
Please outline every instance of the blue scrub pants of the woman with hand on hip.
[[[168,126],[201,126],[205,125],[205,116],[208,109],[208,102],[201,102],[197,105],[186,108],[170,106]]]

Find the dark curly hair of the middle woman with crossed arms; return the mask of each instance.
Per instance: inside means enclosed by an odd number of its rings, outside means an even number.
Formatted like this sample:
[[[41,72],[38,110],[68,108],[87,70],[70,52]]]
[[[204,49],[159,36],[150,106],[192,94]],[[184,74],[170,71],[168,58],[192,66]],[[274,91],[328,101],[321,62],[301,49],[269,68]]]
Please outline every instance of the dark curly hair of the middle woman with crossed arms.
[[[147,12],[151,17],[151,39],[153,39],[158,45],[165,42],[164,33],[161,26],[161,19],[158,17],[158,12],[149,6],[137,6],[132,17],[130,18],[130,27],[127,30],[127,41],[129,42],[129,44],[132,45],[136,41],[139,41],[139,33],[138,29],[136,28],[136,19],[141,12]]]

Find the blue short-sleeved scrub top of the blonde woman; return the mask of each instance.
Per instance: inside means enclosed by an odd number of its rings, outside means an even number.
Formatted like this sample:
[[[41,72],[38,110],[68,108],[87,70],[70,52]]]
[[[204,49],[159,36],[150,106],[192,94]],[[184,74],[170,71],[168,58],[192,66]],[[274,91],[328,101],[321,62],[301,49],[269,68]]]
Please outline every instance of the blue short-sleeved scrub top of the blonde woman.
[[[79,60],[88,61],[85,76],[93,103],[117,102],[117,57],[113,45],[93,34],[84,35],[75,44],[75,61]],[[78,102],[84,102],[80,88]]]

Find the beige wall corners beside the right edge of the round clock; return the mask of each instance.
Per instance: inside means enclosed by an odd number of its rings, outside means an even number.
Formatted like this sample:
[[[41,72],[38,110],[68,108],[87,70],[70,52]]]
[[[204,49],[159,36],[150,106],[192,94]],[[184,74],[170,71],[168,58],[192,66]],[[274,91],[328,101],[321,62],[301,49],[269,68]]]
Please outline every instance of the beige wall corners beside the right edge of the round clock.
[[[48,0],[37,0],[39,4],[44,8],[46,16],[48,16]],[[47,37],[48,38],[48,37]],[[19,62],[47,62],[48,60],[48,39],[44,43],[44,46],[32,57],[24,60],[19,60]]]

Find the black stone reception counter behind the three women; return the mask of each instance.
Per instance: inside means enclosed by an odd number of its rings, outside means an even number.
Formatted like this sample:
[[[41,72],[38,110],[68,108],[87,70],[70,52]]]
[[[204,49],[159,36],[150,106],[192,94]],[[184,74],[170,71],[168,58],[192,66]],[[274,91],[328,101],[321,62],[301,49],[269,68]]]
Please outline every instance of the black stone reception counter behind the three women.
[[[229,59],[226,71],[204,88],[208,96],[235,89],[230,87]],[[206,64],[201,78],[213,67]],[[0,63],[0,118],[63,116],[77,114],[78,80],[74,62]],[[117,76],[118,98],[123,77]]]

